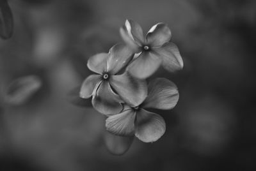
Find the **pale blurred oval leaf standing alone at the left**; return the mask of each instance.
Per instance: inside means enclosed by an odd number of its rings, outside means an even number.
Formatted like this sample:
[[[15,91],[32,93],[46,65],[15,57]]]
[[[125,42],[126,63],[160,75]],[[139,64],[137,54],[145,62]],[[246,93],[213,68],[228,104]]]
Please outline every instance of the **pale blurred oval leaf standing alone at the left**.
[[[20,77],[9,85],[4,101],[10,105],[22,105],[42,87],[42,80],[36,75]]]

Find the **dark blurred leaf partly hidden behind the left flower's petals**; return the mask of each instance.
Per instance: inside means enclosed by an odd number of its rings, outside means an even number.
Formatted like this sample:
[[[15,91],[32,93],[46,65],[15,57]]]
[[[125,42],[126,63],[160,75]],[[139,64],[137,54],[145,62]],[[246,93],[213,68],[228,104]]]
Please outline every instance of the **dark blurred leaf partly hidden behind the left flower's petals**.
[[[92,107],[92,98],[84,99],[79,96],[80,86],[75,87],[68,93],[68,101],[78,107]]]

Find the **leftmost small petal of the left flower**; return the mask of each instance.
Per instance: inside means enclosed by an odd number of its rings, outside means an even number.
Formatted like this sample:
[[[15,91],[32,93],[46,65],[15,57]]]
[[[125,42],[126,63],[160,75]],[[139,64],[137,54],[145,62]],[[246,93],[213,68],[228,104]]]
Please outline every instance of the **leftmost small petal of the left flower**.
[[[81,86],[79,96],[81,98],[90,98],[90,96],[93,94],[93,90],[97,89],[99,86],[100,80],[100,75],[93,74],[87,77]]]

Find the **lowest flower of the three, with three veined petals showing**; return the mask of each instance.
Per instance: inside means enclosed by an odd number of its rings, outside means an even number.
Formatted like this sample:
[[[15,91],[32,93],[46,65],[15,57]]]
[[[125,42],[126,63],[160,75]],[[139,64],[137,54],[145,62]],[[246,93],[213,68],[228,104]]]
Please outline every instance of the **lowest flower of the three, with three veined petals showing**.
[[[135,135],[143,142],[155,142],[165,132],[163,117],[144,108],[168,110],[177,104],[179,92],[166,78],[156,78],[148,84],[148,96],[139,105],[127,105],[120,114],[106,119],[109,132],[120,136]]]

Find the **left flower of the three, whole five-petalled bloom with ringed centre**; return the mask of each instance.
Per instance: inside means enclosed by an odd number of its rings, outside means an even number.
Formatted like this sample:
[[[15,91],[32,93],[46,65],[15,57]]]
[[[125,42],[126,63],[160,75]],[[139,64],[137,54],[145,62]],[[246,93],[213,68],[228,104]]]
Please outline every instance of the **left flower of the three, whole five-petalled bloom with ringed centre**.
[[[147,96],[145,80],[131,77],[127,72],[116,75],[127,66],[132,57],[130,48],[124,44],[114,45],[108,54],[100,53],[90,57],[87,66],[98,74],[90,75],[84,80],[81,98],[92,96],[93,107],[105,115],[121,112],[121,102],[124,101],[139,105]]]

